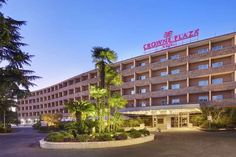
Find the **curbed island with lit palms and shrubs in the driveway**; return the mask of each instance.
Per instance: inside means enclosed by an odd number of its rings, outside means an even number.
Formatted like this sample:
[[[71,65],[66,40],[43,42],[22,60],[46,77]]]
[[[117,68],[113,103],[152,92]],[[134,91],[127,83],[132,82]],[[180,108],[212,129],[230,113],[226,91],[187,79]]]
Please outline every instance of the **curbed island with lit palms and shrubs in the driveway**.
[[[98,83],[89,87],[90,101],[72,100],[65,104],[74,119],[71,122],[62,123],[60,114],[41,115],[41,121],[47,126],[36,124],[35,127],[54,131],[40,141],[42,148],[104,148],[154,140],[147,129],[125,131],[122,128],[125,119],[118,110],[127,101],[119,92],[111,91],[112,86],[122,84],[120,74],[111,66],[117,59],[116,53],[109,48],[94,47],[92,57],[99,78]]]

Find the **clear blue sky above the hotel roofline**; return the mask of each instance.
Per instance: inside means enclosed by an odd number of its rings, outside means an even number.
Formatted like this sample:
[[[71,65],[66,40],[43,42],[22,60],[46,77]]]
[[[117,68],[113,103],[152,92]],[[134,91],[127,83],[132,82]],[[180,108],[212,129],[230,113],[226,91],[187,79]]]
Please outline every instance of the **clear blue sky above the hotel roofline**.
[[[143,45],[200,29],[199,39],[236,31],[235,0],[8,0],[5,16],[27,21],[23,50],[41,89],[92,70],[91,49],[109,47],[118,60],[143,55]]]

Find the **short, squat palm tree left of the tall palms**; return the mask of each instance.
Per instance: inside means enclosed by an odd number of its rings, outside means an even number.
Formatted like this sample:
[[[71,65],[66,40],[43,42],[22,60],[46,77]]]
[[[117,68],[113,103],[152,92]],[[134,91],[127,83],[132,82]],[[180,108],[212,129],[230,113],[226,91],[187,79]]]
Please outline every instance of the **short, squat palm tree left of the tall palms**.
[[[94,113],[94,105],[88,101],[70,101],[66,104],[66,108],[76,117],[76,122],[82,122],[87,116]]]

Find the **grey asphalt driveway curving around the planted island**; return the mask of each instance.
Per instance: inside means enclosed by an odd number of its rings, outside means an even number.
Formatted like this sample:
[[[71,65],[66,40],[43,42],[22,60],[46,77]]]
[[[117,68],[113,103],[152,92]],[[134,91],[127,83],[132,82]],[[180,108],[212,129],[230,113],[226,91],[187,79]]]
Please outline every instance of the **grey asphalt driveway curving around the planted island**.
[[[153,142],[120,148],[46,150],[30,128],[0,134],[0,157],[236,157],[236,132],[158,133]]]

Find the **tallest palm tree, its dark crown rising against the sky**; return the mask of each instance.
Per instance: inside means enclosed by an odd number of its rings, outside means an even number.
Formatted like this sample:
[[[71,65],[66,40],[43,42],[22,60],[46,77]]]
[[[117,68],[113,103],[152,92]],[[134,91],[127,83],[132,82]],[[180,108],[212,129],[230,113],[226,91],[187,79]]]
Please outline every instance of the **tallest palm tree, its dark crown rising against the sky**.
[[[100,88],[105,88],[106,65],[116,61],[117,54],[113,50],[103,47],[94,47],[91,52],[92,52],[93,62],[95,63],[99,71],[99,77],[100,77],[99,86]]]

